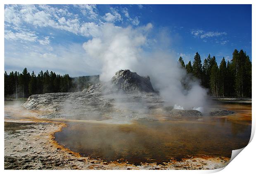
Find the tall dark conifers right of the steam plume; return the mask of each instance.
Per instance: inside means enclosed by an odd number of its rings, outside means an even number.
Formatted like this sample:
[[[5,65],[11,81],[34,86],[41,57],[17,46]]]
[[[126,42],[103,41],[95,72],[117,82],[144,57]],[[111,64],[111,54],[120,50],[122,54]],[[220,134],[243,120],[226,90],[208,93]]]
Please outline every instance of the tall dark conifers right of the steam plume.
[[[209,89],[211,96],[251,97],[251,61],[242,49],[234,50],[231,61],[226,62],[223,57],[219,66],[216,57],[210,54],[202,63],[198,52],[193,63],[185,64],[181,56],[178,62],[192,79],[199,80],[201,86]]]

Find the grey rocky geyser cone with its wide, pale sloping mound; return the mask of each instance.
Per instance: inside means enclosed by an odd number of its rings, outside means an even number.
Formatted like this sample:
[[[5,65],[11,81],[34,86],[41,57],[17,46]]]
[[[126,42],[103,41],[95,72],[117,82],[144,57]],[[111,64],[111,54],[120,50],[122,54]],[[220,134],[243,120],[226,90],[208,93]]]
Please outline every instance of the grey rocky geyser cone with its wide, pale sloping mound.
[[[167,103],[168,104],[168,103]],[[130,70],[117,71],[109,82],[91,85],[82,92],[36,94],[23,103],[27,109],[50,111],[42,118],[94,120],[109,123],[128,123],[131,120],[170,120],[199,118],[195,110],[173,110],[150,78]],[[224,112],[223,112],[224,113]]]

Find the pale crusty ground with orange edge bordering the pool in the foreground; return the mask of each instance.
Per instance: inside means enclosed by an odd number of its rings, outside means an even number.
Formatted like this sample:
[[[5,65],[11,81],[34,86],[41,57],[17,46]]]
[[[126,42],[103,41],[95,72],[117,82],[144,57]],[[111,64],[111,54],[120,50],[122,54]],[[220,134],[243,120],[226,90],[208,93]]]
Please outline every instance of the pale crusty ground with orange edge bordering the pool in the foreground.
[[[126,162],[104,162],[80,156],[54,140],[62,122],[42,120],[5,120],[5,169],[218,169],[229,158],[192,157],[177,162],[140,166]]]

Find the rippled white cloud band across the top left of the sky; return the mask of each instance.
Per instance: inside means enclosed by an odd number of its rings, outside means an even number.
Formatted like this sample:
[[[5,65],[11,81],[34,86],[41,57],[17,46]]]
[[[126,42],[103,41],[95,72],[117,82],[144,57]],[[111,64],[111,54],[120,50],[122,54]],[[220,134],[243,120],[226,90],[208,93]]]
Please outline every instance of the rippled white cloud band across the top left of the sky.
[[[49,5],[6,5],[5,26],[13,24],[12,28],[14,28],[32,24],[35,27],[52,27],[69,31],[76,35],[95,37],[98,34],[100,26],[104,24],[100,19],[104,19],[110,23],[123,21],[117,8],[110,7],[110,12],[104,16],[98,16],[96,5],[74,6],[78,7],[88,18],[95,20],[90,22],[84,21],[79,18],[78,14],[70,13],[66,6],[59,8]],[[137,26],[140,23],[138,17],[136,16],[132,19],[129,16],[128,9],[123,9],[128,21],[134,26]]]

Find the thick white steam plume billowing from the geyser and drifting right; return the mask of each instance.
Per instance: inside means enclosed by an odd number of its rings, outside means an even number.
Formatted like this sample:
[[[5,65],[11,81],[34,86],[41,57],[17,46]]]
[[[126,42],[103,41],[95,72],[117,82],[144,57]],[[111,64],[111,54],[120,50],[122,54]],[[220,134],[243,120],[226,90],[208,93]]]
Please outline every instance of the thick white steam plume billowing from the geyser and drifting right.
[[[101,34],[85,42],[83,48],[86,56],[100,64],[101,81],[109,81],[120,69],[130,69],[139,75],[149,75],[154,89],[168,105],[201,111],[206,103],[206,89],[188,78],[176,56],[157,46],[168,38],[149,39],[152,28],[150,23],[139,28],[104,24]],[[188,89],[183,87],[182,79]]]

